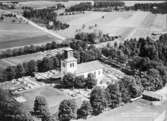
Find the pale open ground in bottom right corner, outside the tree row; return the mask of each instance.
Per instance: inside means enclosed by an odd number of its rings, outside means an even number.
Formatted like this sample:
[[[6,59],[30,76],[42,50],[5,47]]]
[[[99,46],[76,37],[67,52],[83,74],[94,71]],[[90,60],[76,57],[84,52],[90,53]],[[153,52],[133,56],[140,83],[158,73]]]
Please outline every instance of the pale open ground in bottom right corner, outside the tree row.
[[[161,121],[158,119],[162,115],[166,116],[166,109],[167,102],[162,105],[152,105],[149,101],[139,99],[87,120],[78,121]]]

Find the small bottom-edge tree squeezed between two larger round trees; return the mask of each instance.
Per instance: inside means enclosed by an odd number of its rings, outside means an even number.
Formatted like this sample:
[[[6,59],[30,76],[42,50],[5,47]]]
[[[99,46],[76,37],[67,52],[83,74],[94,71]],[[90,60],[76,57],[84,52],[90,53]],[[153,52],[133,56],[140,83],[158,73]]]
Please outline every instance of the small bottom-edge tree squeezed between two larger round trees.
[[[77,110],[77,118],[86,119],[87,116],[92,114],[92,107],[90,102],[83,101],[81,107]]]

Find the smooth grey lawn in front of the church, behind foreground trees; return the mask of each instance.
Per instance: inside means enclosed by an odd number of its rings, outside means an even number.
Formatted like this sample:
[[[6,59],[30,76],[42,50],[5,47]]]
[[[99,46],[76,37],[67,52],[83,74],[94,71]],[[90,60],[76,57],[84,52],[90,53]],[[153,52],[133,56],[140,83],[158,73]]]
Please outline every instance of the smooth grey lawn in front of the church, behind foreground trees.
[[[28,110],[32,110],[34,99],[36,96],[43,96],[46,98],[51,113],[55,113],[59,107],[59,103],[70,98],[62,91],[52,87],[41,87],[32,91],[21,94],[27,101],[23,103]]]

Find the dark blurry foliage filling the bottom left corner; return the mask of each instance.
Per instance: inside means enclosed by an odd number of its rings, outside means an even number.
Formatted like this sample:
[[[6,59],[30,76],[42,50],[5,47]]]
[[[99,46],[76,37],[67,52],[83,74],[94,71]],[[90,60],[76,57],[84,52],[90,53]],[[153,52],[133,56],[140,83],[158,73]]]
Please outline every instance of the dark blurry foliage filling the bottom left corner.
[[[33,121],[33,118],[8,90],[0,89],[0,121]]]

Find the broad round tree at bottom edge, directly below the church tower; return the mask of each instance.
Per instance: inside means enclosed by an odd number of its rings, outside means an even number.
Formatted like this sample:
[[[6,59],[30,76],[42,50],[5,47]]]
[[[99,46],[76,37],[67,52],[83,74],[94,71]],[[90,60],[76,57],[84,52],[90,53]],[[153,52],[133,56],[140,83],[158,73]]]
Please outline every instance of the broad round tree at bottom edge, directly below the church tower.
[[[59,106],[58,117],[60,121],[70,121],[76,118],[77,106],[74,100],[63,100]]]

